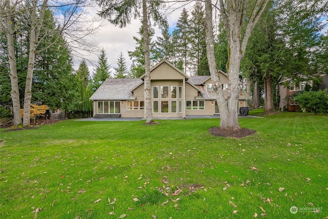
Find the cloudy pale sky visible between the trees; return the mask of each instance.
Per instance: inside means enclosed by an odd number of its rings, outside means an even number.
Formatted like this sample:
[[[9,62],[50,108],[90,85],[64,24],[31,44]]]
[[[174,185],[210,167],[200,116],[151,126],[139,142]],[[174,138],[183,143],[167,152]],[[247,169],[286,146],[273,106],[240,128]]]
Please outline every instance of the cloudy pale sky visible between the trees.
[[[191,11],[192,6],[187,5],[187,10]],[[97,11],[99,10],[98,7],[93,7],[88,9],[88,14],[91,17],[97,17],[100,18],[97,15]],[[170,15],[167,16],[169,27],[174,28],[176,25],[176,22],[181,14],[182,8],[179,8],[175,10],[174,12],[170,13]],[[327,17],[322,18],[321,21],[323,23],[328,23]],[[136,44],[135,40],[133,39],[133,36],[136,36],[137,38],[140,38],[140,35],[138,34],[139,28],[141,26],[141,22],[139,19],[132,19],[131,24],[127,25],[125,28],[119,28],[115,27],[114,25],[110,24],[106,19],[100,19],[100,21],[97,23],[98,25],[100,22],[103,22],[103,27],[99,28],[98,32],[94,34],[93,36],[89,37],[89,41],[92,41],[92,43],[97,46],[98,48],[104,48],[106,52],[106,57],[108,64],[111,65],[111,73],[114,73],[114,67],[117,67],[117,59],[120,55],[120,52],[122,52],[125,62],[127,64],[127,67],[130,68],[132,61],[128,55],[128,51],[134,51]],[[95,25],[97,25],[95,24]],[[155,28],[155,36],[153,39],[156,39],[156,36],[161,35],[161,31],[158,27]],[[328,31],[328,25],[325,26],[325,29],[322,31],[322,33]],[[98,60],[98,54],[87,54],[85,53],[85,58],[87,60],[90,60],[92,62],[88,62],[88,68],[90,75],[93,75],[95,72],[95,64]],[[77,70],[78,66],[82,59],[80,57],[74,57],[74,69]]]

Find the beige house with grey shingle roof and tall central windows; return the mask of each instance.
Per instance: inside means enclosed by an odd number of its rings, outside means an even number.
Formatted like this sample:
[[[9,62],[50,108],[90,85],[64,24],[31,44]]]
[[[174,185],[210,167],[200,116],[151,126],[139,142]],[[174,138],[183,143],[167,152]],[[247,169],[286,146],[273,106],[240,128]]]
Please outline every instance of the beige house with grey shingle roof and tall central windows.
[[[227,96],[228,76],[219,73]],[[144,78],[106,79],[90,97],[93,116],[146,117]],[[211,76],[188,76],[166,60],[151,68],[151,97],[153,117],[219,114]],[[239,106],[249,98],[242,90]]]

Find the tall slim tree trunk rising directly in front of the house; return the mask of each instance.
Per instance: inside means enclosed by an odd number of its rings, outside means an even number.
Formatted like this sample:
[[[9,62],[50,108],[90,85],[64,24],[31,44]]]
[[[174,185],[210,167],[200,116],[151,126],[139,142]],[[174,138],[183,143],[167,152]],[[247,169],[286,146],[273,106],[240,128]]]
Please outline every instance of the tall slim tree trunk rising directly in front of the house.
[[[146,110],[146,124],[153,120],[153,111],[151,103],[151,79],[150,79],[150,52],[149,52],[149,33],[148,33],[148,17],[147,17],[147,3],[142,0],[142,26],[144,27],[144,50],[145,50],[145,110]]]

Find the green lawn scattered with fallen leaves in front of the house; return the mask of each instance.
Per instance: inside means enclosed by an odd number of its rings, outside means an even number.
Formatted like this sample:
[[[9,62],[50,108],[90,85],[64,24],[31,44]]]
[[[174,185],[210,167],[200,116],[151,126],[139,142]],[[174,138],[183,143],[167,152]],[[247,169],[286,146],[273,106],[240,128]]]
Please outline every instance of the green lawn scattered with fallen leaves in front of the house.
[[[0,217],[32,218],[37,208],[39,218],[328,216],[328,116],[239,123],[258,132],[215,137],[207,130],[216,119],[1,130]]]

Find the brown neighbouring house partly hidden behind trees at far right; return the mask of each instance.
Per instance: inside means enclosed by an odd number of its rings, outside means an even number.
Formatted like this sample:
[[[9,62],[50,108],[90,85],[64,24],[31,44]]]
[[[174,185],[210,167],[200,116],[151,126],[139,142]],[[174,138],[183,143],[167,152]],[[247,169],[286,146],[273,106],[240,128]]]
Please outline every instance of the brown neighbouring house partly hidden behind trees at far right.
[[[322,74],[320,75],[322,78],[321,84],[318,85],[319,90],[323,90],[328,88],[328,75],[327,74]],[[291,79],[286,79],[282,81],[283,83],[289,82],[289,86],[284,86],[281,83],[278,84],[277,86],[277,92],[278,95],[280,96],[280,101],[279,101],[279,109],[285,109],[287,111],[297,111],[298,110],[298,105],[294,101],[294,95],[297,94],[298,92],[301,92],[305,89],[306,84],[308,84],[310,87],[313,86],[312,81],[306,80],[304,77],[303,81],[292,81]]]

